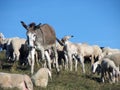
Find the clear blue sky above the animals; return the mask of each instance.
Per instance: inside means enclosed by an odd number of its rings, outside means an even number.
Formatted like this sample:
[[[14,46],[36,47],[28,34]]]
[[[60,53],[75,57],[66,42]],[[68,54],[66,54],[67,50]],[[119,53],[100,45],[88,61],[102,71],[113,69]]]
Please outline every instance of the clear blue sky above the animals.
[[[120,0],[0,0],[0,32],[26,38],[20,21],[48,23],[58,38],[120,48]]]

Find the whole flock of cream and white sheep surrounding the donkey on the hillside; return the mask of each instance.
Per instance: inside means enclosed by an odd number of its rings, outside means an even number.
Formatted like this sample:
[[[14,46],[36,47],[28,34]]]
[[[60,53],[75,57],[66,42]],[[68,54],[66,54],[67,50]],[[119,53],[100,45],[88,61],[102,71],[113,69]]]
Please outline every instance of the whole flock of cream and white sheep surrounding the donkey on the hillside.
[[[82,65],[82,73],[86,73],[84,59],[90,58],[92,73],[98,72],[101,74],[101,81],[109,80],[110,83],[119,81],[120,76],[120,50],[109,47],[100,48],[98,45],[88,45],[85,43],[73,43],[69,39],[73,36],[65,36],[61,40],[57,39],[56,48],[58,53],[58,65],[62,66],[64,70],[77,71],[78,62]],[[6,51],[7,60],[19,61],[21,65],[29,64],[29,51],[31,48],[27,46],[26,39],[19,37],[5,38],[0,33],[0,47]],[[0,87],[14,88],[20,90],[33,90],[33,86],[46,87],[48,84],[48,77],[52,79],[51,68],[56,66],[54,61],[54,54],[52,50],[47,50],[50,56],[50,63],[48,61],[41,61],[39,52],[35,53],[36,62],[42,63],[42,67],[31,77],[26,74],[10,74],[0,72]],[[47,54],[46,54],[47,55]],[[75,64],[73,64],[73,61]],[[61,62],[61,63],[60,63]],[[73,66],[74,65],[74,66]],[[61,70],[61,69],[60,69]],[[18,78],[19,77],[19,78]]]

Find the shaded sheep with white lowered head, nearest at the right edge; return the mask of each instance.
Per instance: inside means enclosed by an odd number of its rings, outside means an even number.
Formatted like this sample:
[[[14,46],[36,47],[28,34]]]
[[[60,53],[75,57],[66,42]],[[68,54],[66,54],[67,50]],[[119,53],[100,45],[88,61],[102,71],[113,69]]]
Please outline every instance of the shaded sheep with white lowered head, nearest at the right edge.
[[[109,81],[112,81],[112,83],[115,83],[116,77],[118,82],[118,76],[120,74],[119,67],[117,67],[114,61],[111,59],[104,57],[101,60],[95,62],[92,65],[92,72],[95,73],[96,71],[101,73],[101,80],[103,83],[105,82],[106,77],[108,77]]]

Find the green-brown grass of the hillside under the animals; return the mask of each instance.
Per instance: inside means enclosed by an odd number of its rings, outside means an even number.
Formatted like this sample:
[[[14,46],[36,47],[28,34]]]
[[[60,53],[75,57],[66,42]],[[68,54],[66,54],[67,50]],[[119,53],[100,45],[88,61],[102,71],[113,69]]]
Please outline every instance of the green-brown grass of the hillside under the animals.
[[[4,52],[0,52],[0,60],[5,62]],[[24,73],[30,76],[30,67],[17,68],[15,71],[11,71],[9,63],[4,63],[6,68],[0,69],[0,72],[10,72],[10,73]],[[9,67],[7,67],[9,66]],[[40,67],[36,67],[37,71]],[[35,87],[34,90],[120,90],[120,83],[109,84],[101,83],[100,76],[91,74],[91,67],[89,63],[85,64],[86,73],[83,74],[81,70],[81,65],[78,64],[78,71],[72,72],[61,70],[59,74],[56,73],[55,69],[52,70],[52,80],[49,79],[47,88]],[[17,90],[14,89],[2,89],[0,90]]]

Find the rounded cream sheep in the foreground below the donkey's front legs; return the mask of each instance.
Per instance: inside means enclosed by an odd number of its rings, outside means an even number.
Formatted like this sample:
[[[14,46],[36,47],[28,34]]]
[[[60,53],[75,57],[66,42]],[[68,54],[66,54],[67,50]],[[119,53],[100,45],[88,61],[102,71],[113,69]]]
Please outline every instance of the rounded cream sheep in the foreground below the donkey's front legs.
[[[52,79],[51,72],[48,68],[40,68],[37,73],[35,73],[31,79],[35,86],[40,86],[46,88],[48,85],[48,76]]]

